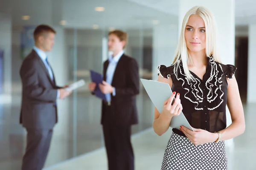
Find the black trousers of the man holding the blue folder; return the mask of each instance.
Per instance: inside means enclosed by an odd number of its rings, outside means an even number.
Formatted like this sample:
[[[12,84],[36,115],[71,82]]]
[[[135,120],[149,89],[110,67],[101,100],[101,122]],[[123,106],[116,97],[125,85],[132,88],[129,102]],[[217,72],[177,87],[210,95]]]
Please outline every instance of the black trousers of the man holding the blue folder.
[[[110,111],[110,107],[108,107]],[[108,117],[108,118],[107,118]],[[116,125],[105,115],[103,133],[108,155],[108,170],[134,170],[131,125]]]

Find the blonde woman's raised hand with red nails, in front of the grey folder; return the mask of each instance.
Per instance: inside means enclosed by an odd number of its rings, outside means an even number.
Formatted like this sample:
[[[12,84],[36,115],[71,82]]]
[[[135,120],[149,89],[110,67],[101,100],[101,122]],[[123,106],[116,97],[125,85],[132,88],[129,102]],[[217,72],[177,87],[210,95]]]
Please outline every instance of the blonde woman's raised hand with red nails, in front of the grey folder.
[[[179,93],[177,94],[175,102],[172,105],[172,101],[175,98],[175,94],[176,94],[176,92],[173,92],[171,97],[169,99],[167,99],[164,102],[164,104],[163,104],[163,112],[162,112],[162,114],[164,114],[165,116],[167,116],[170,119],[173,116],[180,115],[180,113],[182,111],[182,105],[180,103],[180,94]]]

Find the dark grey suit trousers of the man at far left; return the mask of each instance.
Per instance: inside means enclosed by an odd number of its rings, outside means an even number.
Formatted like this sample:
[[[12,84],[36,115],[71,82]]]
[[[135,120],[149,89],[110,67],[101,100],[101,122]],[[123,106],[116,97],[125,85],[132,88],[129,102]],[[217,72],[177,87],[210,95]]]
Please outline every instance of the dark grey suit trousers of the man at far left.
[[[23,156],[21,170],[41,170],[49,151],[52,129],[26,129],[26,153]]]

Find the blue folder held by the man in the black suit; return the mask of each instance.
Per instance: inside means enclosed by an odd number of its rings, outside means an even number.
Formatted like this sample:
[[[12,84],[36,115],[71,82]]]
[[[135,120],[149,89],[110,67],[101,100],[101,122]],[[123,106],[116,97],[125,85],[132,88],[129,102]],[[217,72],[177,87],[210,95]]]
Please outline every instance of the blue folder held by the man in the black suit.
[[[100,91],[99,89],[99,84],[102,84],[102,81],[103,81],[103,76],[102,74],[99,74],[95,71],[92,71],[90,70],[90,76],[91,76],[91,79],[92,79],[92,82],[95,82],[96,83],[96,88],[95,90],[93,91],[93,93],[99,97],[100,99],[102,100],[105,100],[107,102],[107,97],[105,94],[102,93],[102,91]]]

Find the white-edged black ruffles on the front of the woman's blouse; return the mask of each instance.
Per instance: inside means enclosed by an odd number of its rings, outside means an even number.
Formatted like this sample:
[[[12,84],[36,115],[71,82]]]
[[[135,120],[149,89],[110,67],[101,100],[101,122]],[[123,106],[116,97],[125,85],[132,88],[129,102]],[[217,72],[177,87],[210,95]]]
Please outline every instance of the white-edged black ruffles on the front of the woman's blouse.
[[[177,69],[177,71],[176,71]],[[174,65],[174,74],[178,81],[182,82],[182,88],[186,90],[184,97],[193,103],[195,110],[203,110],[204,93],[207,91],[208,109],[214,110],[223,103],[224,92],[221,90],[223,70],[221,65],[213,57],[208,57],[208,64],[203,80],[192,71],[192,81],[189,81],[183,70],[182,62]],[[205,83],[205,89],[201,89],[201,83]]]

